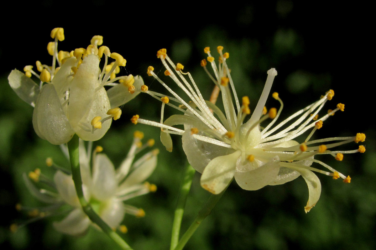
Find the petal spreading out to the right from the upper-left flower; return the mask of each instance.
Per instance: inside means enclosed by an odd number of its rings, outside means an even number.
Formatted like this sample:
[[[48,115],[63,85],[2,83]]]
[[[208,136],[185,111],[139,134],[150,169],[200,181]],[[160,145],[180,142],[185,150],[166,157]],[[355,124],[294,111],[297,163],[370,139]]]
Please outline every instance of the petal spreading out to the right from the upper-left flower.
[[[140,89],[142,85],[144,85],[144,80],[141,76],[134,77],[135,82],[133,82],[133,86],[136,89]],[[111,108],[116,108],[124,103],[129,102],[133,98],[135,98],[140,92],[136,91],[135,93],[131,94],[128,91],[128,87],[124,86],[123,84],[115,85],[114,87],[107,90],[107,95],[111,103]]]

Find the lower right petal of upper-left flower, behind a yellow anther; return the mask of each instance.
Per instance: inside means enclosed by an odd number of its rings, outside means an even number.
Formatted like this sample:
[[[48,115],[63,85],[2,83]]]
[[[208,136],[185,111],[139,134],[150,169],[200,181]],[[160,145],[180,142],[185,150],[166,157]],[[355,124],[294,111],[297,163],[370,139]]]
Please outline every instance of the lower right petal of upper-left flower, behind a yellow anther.
[[[92,132],[91,121],[94,117],[100,116],[103,118],[108,117],[106,114],[110,109],[110,102],[108,100],[105,88],[100,88],[92,100],[89,109],[86,110],[86,114],[82,117],[79,124],[74,127],[74,131],[84,141],[97,141],[102,138],[107,130],[111,126],[112,118],[102,123],[101,129],[96,129]]]

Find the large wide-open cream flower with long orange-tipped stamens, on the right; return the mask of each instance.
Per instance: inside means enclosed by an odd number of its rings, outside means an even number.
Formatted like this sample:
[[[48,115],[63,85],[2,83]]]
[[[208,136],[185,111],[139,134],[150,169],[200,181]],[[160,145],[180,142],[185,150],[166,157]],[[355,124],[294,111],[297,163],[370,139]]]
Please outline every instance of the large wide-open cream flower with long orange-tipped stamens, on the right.
[[[178,96],[170,86],[165,84],[154,68],[149,66],[147,74],[160,82],[172,96],[155,93],[144,88],[142,91],[162,101],[161,121],[148,121],[132,117],[133,123],[143,123],[161,128],[161,141],[168,151],[172,150],[170,134],[182,135],[183,149],[190,164],[202,173],[201,186],[211,193],[222,192],[235,178],[239,186],[246,190],[257,190],[266,185],[284,184],[302,175],[309,189],[309,200],[305,207],[308,212],[318,201],[321,193],[321,184],[317,176],[312,172],[320,172],[332,176],[334,179],[341,177],[349,183],[350,177],[346,177],[331,166],[314,159],[318,154],[330,154],[337,160],[343,159],[343,154],[365,151],[364,146],[356,150],[331,151],[331,148],[347,144],[349,142],[363,142],[365,135],[358,133],[353,137],[332,137],[310,141],[313,133],[323,126],[325,121],[337,111],[344,111],[344,105],[339,103],[337,108],[329,110],[324,115],[319,115],[327,100],[334,97],[334,91],[329,90],[319,100],[300,109],[284,121],[276,124],[283,108],[283,102],[278,93],[272,97],[280,103],[280,109],[271,108],[267,112],[264,106],[269,96],[275,69],[268,70],[267,80],[261,97],[252,112],[249,120],[245,120],[251,114],[249,98],[242,98],[240,105],[235,86],[226,60],[229,53],[223,53],[223,47],[218,46],[220,55],[218,65],[214,62],[210,48],[204,52],[208,57],[201,61],[201,66],[214,82],[215,88],[207,101],[203,98],[193,77],[189,72],[182,72],[181,64],[174,64],[167,56],[166,49],[157,52],[169,76],[179,88],[189,97],[186,101]],[[207,64],[211,64],[214,76],[209,73]],[[188,76],[188,77],[186,77]],[[218,94],[221,93],[224,112],[215,105]],[[164,120],[164,106],[171,106],[183,115],[172,115]],[[261,127],[267,119],[271,119],[265,127]],[[316,121],[318,120],[318,121]],[[174,126],[182,124],[184,129]],[[311,129],[311,132],[302,142],[294,139]],[[299,137],[301,138],[301,137]],[[311,167],[312,163],[318,163],[329,172]]]

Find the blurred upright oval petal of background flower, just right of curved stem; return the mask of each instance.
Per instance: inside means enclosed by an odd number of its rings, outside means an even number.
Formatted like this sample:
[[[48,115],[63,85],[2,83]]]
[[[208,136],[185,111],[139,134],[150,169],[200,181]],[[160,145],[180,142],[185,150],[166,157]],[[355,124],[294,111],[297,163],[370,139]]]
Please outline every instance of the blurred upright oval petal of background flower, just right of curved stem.
[[[97,154],[93,164],[92,196],[100,201],[111,198],[116,191],[115,168],[105,154]]]

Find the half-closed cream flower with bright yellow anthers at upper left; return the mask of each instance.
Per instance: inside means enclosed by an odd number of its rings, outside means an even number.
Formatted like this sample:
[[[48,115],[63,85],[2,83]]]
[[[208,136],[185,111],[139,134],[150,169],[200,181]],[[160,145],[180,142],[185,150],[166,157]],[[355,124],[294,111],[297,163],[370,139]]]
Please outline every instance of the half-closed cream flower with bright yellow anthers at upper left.
[[[12,70],[9,85],[34,107],[33,127],[42,139],[58,145],[70,141],[76,133],[85,141],[96,141],[111,126],[111,118],[120,117],[121,110],[117,107],[138,94],[133,94],[134,89],[143,85],[143,79],[132,75],[115,77],[126,60],[120,54],[111,53],[106,46],[98,49],[103,43],[102,36],[94,36],[87,49],[71,52],[58,52],[58,40],[64,40],[62,28],[53,29],[51,37],[55,41],[48,44],[47,50],[53,56],[52,66],[37,61],[40,74],[31,65],[24,67],[26,75]],[[105,62],[101,70],[99,63],[103,55]],[[108,57],[115,61],[108,64]],[[39,86],[30,79],[32,75],[40,79]],[[114,83],[117,80],[122,83]],[[106,91],[105,85],[113,87]]]

